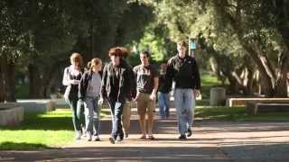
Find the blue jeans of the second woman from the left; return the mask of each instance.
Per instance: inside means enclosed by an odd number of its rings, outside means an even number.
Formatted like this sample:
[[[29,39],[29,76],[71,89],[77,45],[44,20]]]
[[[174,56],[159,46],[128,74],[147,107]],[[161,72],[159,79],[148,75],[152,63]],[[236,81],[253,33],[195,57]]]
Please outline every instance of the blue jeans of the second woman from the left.
[[[100,106],[98,106],[98,97],[87,97],[85,103],[86,130],[90,135],[98,135],[101,112]]]

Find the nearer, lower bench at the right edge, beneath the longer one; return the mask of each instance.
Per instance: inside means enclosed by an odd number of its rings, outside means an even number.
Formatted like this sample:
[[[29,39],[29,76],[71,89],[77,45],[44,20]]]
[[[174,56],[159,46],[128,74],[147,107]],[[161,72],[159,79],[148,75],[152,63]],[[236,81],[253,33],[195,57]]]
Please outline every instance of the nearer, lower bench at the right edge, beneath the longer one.
[[[289,103],[268,103],[269,101],[247,102],[247,114],[256,115],[260,112],[289,112]]]

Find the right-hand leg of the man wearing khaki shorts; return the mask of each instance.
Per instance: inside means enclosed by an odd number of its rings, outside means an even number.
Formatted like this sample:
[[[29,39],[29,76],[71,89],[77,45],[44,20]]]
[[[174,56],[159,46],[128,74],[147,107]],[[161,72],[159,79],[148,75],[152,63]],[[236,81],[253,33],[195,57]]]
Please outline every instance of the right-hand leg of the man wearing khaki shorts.
[[[147,95],[147,133],[149,139],[154,139],[153,136],[154,109],[155,109],[154,101],[150,100],[149,95]]]

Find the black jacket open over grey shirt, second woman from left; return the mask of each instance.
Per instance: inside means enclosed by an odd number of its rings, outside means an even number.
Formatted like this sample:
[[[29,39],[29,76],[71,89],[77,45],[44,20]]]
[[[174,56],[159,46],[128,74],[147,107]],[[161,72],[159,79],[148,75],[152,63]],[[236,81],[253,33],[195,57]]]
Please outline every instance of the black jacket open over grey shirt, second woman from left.
[[[86,94],[87,94],[87,90],[88,90],[88,85],[89,82],[92,78],[92,70],[87,70],[83,73],[81,79],[80,79],[80,83],[79,83],[79,100],[84,101],[84,99],[86,98]],[[101,73],[99,73],[100,76],[102,76]]]

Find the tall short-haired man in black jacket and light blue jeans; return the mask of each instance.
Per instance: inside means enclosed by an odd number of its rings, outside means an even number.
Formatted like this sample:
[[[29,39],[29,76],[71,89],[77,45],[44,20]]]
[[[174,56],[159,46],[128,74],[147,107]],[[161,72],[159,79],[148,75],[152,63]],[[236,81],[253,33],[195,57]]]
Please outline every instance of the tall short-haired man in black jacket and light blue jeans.
[[[179,139],[186,139],[191,136],[195,98],[200,95],[200,73],[196,60],[186,55],[184,41],[177,43],[177,50],[178,54],[168,63],[165,86],[171,89],[172,79],[175,81],[174,103],[181,134]]]

